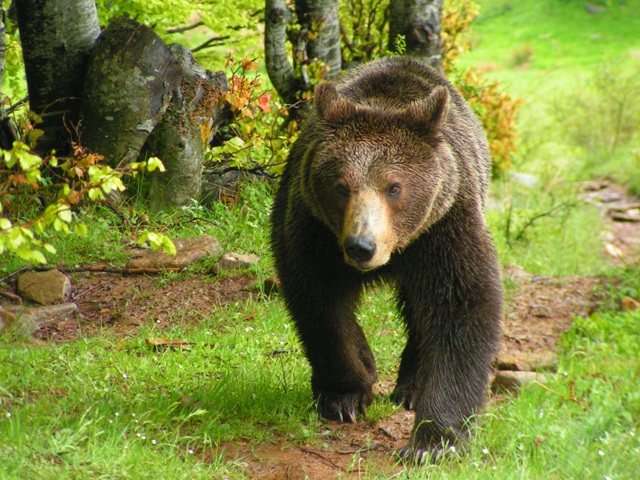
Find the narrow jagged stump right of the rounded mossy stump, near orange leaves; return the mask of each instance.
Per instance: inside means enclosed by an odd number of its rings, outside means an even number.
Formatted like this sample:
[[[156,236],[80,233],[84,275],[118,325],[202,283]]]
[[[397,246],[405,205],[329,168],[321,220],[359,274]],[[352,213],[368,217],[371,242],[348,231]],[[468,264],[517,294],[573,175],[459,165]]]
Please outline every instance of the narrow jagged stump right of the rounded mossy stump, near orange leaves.
[[[145,151],[160,158],[166,168],[150,176],[153,211],[200,199],[204,147],[218,128],[222,93],[228,89],[224,72],[204,70],[181,45],[169,49],[179,60],[182,83],[145,145]]]

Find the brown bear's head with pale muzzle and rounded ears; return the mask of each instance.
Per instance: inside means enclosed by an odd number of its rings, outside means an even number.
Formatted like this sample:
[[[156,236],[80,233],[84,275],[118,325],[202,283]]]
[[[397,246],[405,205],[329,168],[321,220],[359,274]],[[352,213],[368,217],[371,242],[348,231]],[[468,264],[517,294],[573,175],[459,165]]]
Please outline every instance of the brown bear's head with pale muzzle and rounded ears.
[[[381,267],[454,201],[449,92],[436,86],[409,104],[356,102],[325,82],[316,87],[315,109],[302,165],[305,202],[334,232],[348,264]]]

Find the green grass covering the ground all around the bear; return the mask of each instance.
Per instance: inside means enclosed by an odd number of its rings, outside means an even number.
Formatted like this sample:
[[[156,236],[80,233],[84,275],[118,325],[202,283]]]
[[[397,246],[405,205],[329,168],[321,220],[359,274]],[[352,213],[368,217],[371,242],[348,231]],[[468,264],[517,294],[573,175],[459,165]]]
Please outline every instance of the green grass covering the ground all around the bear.
[[[492,64],[490,75],[525,99],[515,164],[537,179],[528,187],[507,176],[493,185],[488,221],[501,262],[539,275],[623,275],[608,292],[609,303],[623,295],[638,298],[637,270],[620,272],[605,261],[598,212],[577,200],[573,185],[579,175],[606,176],[622,167],[633,172],[636,144],[624,145],[607,170],[594,165],[582,146],[563,143],[566,130],[552,113],[554,95],[590,78],[603,59],[617,60],[623,70],[633,63],[640,5],[608,2],[606,11],[590,16],[583,2],[571,0],[480,3],[478,45],[464,61]],[[532,52],[528,67],[513,60],[527,57],[525,44]],[[266,277],[273,273],[270,202],[270,187],[253,184],[235,205],[193,205],[152,217],[150,228],[173,238],[209,234],[225,251],[257,253],[262,260],[254,273]],[[51,262],[121,265],[123,245],[144,228],[135,222],[135,208],[125,214],[127,221],[102,207],[88,208],[88,236],[47,238],[59,252]],[[2,260],[1,275],[22,266]],[[207,266],[194,266],[187,275]],[[381,379],[391,380],[404,340],[390,290],[370,292],[359,313]],[[322,442],[325,428],[311,402],[309,367],[280,299],[253,298],[214,310],[199,323],[183,321],[186,315],[177,313],[162,334],[193,342],[184,351],[148,347],[145,338],[156,335],[152,326],[125,338],[105,329],[64,344],[1,336],[0,478],[242,479],[241,462],[226,458],[219,445]],[[636,478],[639,326],[640,313],[614,308],[577,319],[562,339],[557,373],[544,387],[531,384],[491,405],[465,455],[406,467],[394,478]],[[392,411],[388,400],[378,398],[369,417]],[[363,478],[388,476],[368,465]]]

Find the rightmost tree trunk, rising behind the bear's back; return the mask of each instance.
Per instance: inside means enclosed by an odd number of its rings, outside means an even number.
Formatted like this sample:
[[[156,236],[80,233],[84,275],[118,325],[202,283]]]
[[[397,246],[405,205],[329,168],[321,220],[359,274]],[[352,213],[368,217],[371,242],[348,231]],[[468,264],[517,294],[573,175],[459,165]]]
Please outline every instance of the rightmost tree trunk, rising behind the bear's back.
[[[442,0],[393,0],[389,13],[389,50],[398,50],[397,38],[406,42],[406,54],[442,70]]]

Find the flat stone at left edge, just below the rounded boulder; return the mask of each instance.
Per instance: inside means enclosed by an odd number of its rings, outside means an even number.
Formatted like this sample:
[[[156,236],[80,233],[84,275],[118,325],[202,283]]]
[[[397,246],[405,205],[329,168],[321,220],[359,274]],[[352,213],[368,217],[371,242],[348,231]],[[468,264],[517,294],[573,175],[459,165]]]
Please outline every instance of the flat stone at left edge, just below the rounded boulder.
[[[47,325],[61,322],[77,322],[82,318],[75,303],[61,303],[45,307],[14,307],[0,310],[0,335],[15,331],[31,335]]]

